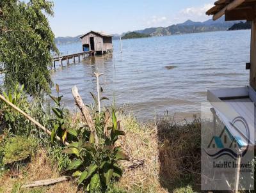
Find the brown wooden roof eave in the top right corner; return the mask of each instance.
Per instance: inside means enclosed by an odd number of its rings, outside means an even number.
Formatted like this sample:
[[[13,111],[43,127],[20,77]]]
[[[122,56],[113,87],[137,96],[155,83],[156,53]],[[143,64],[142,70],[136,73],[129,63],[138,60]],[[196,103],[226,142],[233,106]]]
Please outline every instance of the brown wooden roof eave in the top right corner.
[[[218,0],[206,15],[213,15],[213,20],[225,15],[226,21],[252,21],[256,18],[256,0]]]

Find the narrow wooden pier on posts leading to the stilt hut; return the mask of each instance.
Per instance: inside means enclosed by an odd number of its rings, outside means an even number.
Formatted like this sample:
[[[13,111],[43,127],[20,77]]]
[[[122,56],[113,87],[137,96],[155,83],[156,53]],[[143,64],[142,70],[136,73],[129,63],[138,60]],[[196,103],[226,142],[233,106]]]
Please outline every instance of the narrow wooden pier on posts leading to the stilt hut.
[[[63,66],[63,61],[67,61],[67,65],[70,64],[70,59],[71,61],[73,61],[73,63],[76,63],[76,58],[78,59],[78,62],[81,61],[81,56],[82,58],[85,58],[86,56],[92,56],[94,54],[93,51],[88,51],[88,52],[80,52],[80,53],[76,53],[76,54],[68,54],[65,56],[58,56],[56,58],[53,58],[53,67],[55,68],[56,66],[56,61],[60,62],[60,66]]]

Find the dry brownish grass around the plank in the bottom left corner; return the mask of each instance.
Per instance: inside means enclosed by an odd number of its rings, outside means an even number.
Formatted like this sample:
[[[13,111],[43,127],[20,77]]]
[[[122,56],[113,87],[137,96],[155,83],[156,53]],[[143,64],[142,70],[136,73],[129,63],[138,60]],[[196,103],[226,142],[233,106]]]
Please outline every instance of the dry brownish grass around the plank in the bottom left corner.
[[[20,169],[19,174],[13,172],[5,173],[0,178],[0,192],[76,192],[77,186],[74,181],[64,181],[49,187],[37,187],[33,189],[20,189],[20,186],[28,181],[47,180],[58,178],[56,166],[51,165],[51,160],[45,150],[40,149],[35,157],[31,159],[28,166]]]

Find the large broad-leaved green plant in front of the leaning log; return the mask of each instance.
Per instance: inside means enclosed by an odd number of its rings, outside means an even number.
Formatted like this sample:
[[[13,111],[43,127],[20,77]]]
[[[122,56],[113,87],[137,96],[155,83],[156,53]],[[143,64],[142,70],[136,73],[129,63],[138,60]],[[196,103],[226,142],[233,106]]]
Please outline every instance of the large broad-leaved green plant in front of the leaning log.
[[[104,115],[104,116],[103,116]],[[105,118],[105,119],[104,119]],[[112,126],[108,127],[109,112],[95,114],[95,128],[97,134],[101,130],[99,144],[95,143],[95,135],[90,128],[82,127],[77,130],[72,142],[63,150],[72,158],[67,171],[72,171],[72,176],[79,177],[78,183],[83,184],[87,192],[104,192],[111,180],[122,176],[122,169],[118,160],[129,160],[120,146],[115,146],[119,135],[125,135],[120,130],[120,121],[116,121],[115,111],[112,112]]]

